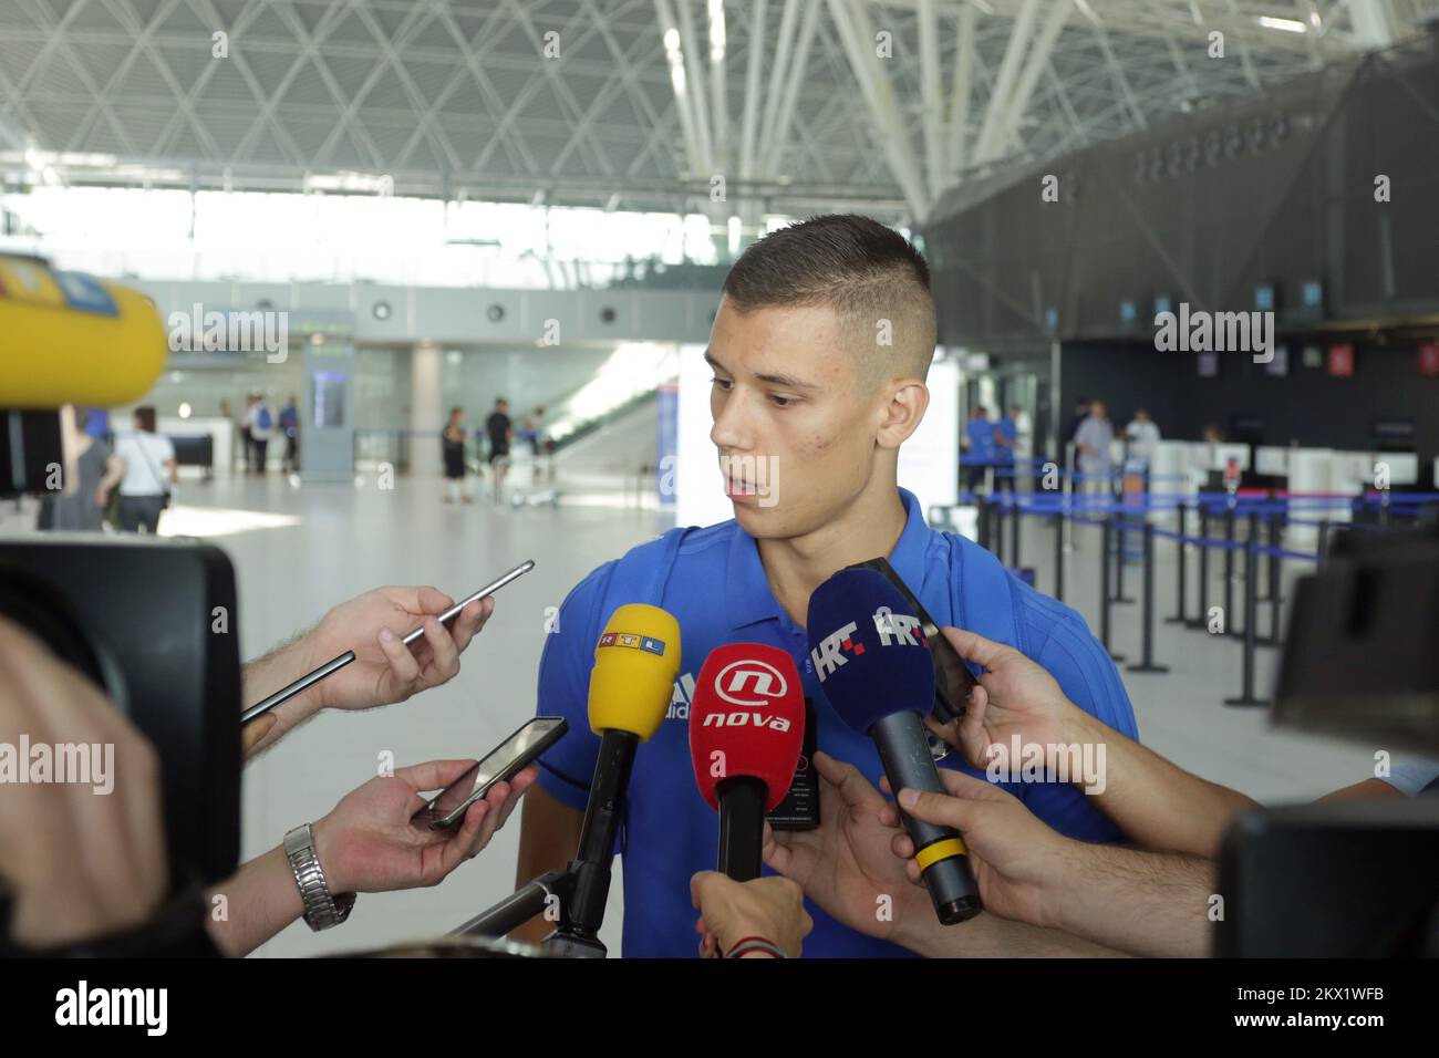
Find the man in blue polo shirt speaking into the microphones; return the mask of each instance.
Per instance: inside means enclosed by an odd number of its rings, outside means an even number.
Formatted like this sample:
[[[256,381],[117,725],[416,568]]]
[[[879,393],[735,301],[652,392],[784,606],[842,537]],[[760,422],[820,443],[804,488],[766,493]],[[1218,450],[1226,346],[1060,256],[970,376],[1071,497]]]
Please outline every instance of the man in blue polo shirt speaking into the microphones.
[[[672,530],[594,570],[566,599],[540,662],[540,713],[568,717],[570,733],[544,756],[525,799],[521,881],[563,868],[578,842],[599,749],[586,715],[589,675],[609,616],[643,602],[679,622],[673,700],[640,746],[629,786],[620,839],[625,956],[696,953],[689,880],[714,868],[718,823],[695,786],[688,721],[709,651],[734,642],[789,651],[814,701],[819,749],[878,782],[873,743],[829,707],[803,628],[810,593],[845,566],[888,556],[941,625],[1017,646],[1071,701],[1135,737],[1120,677],[1084,619],[1003,571],[977,544],[930,530],[915,498],[898,488],[899,446],[928,406],[934,345],[924,258],[866,217],[780,229],[730,271],[705,358],[714,369],[711,439],[735,517]],[[1007,789],[1061,833],[1120,836],[1072,786]],[[806,956],[904,954],[806,907],[814,918]],[[537,920],[517,936],[534,940],[550,928]]]

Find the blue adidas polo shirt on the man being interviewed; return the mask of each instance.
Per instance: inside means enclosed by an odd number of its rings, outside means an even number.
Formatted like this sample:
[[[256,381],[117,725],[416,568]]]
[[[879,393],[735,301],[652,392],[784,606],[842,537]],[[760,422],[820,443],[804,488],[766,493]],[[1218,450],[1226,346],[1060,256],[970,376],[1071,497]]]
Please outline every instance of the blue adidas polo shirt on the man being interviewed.
[[[940,623],[966,626],[957,579],[967,553],[989,560],[979,544],[931,530],[920,502],[899,489],[908,521],[889,561]],[[642,544],[658,559],[656,541]],[[544,756],[540,785],[563,803],[583,810],[600,740],[590,731],[587,691],[594,643],[614,607],[606,603],[616,563],[581,580],[560,610],[558,630],[545,636],[540,661],[538,713],[564,715],[570,731]],[[1137,738],[1134,710],[1109,655],[1075,610],[1040,594],[1017,577],[1002,574],[1013,599],[1022,646],[1055,677],[1079,708]],[[835,714],[809,662],[804,629],[776,600],[760,564],[754,538],[735,521],[691,530],[675,556],[659,605],[681,629],[681,666],[669,713],[659,731],[639,747],[630,777],[620,836],[625,878],[626,957],[692,957],[698,950],[696,911],[689,878],[715,867],[718,816],[699,796],[689,760],[689,701],[705,656],[724,643],[760,642],[789,651],[814,701],[819,749],[853,763],[878,786],[884,769],[873,743]],[[953,753],[944,766],[960,766]],[[981,774],[964,767],[971,774]],[[557,774],[558,773],[558,774]],[[1088,841],[1117,841],[1120,832],[1071,785],[1013,783],[1006,789],[1061,833]],[[766,868],[766,874],[770,874]],[[814,930],[804,954],[819,957],[892,957],[907,954],[882,940],[840,926],[810,901]]]

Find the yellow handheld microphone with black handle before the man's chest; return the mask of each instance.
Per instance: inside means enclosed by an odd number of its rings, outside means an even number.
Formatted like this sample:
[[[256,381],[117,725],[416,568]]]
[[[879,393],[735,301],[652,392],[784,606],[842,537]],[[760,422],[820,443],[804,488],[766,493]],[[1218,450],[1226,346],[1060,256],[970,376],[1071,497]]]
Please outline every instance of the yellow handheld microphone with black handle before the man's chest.
[[[676,675],[679,622],[673,615],[639,603],[614,610],[594,645],[590,728],[600,736],[600,753],[584,808],[580,849],[567,872],[570,892],[560,901],[560,928],[545,941],[553,950],[570,956],[604,954],[599,931],[635,751],[663,723]]]

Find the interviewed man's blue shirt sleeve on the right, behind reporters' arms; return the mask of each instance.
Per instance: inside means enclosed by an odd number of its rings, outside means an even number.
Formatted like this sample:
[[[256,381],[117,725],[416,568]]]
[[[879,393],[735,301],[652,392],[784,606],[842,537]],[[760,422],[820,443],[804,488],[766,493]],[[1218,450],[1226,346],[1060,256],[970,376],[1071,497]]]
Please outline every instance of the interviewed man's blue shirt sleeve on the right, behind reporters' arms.
[[[1104,646],[1075,610],[1053,600],[1045,602],[1048,606],[1030,606],[1020,613],[1029,656],[1055,678],[1069,701],[1138,741],[1134,707]],[[1098,764],[1098,759],[1094,763]],[[1030,812],[1069,838],[1124,839],[1124,832],[1073,783],[1019,783],[1010,789]]]

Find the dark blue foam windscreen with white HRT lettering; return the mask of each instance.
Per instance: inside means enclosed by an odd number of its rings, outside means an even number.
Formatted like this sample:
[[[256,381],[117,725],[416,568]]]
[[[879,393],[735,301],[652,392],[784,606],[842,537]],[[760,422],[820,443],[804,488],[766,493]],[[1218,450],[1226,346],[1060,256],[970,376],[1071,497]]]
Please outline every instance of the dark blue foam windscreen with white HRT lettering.
[[[839,718],[866,733],[934,705],[934,662],[914,607],[884,574],[840,570],[810,596],[810,661]]]

